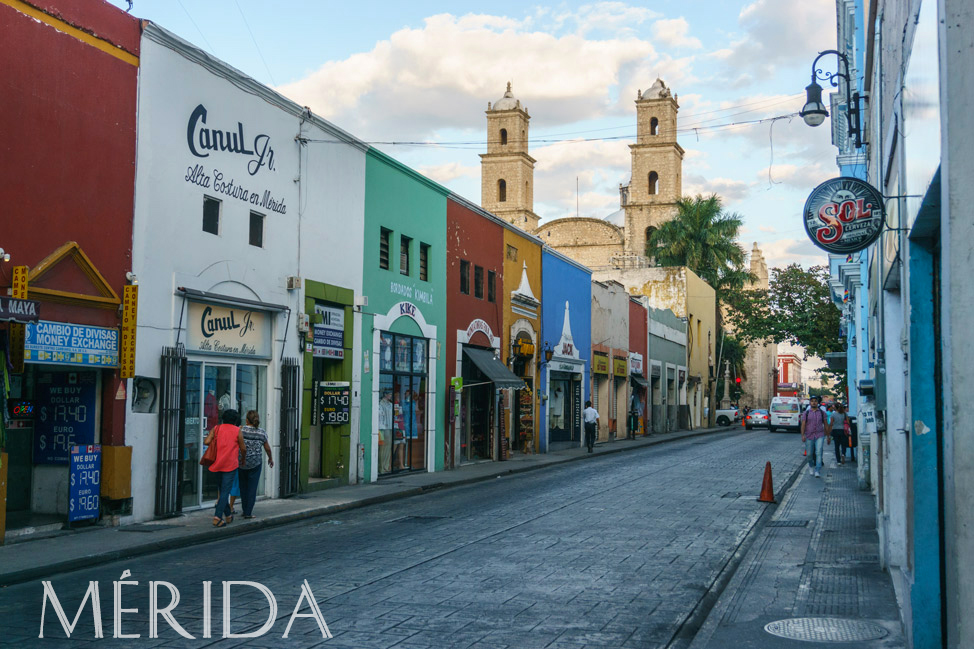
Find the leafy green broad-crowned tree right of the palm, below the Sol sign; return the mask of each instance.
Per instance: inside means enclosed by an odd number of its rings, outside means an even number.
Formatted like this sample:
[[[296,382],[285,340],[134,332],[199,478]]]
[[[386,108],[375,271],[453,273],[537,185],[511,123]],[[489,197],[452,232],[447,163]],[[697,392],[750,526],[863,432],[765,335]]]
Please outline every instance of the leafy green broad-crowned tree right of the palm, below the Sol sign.
[[[726,299],[728,319],[745,345],[790,341],[819,358],[844,349],[827,266],[773,268],[767,291],[737,291]]]

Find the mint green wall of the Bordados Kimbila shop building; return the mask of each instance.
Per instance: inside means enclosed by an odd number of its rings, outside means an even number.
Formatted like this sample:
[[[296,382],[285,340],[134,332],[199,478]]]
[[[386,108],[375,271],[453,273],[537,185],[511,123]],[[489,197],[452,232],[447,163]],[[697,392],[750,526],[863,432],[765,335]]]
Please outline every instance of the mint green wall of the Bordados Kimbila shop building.
[[[436,326],[437,351],[435,432],[428,444],[435,449],[434,469],[443,470],[443,403],[446,369],[443,345],[446,341],[446,197],[449,191],[387,155],[371,150],[365,164],[365,268],[362,286],[369,305],[363,309],[362,350],[369,354],[369,371],[362,372],[361,443],[365,447],[365,477],[372,475],[372,411],[377,395],[373,374],[378,372],[372,349],[374,315],[385,315],[399,302],[408,301],[422,312],[426,323]],[[379,268],[380,228],[392,230],[389,270]],[[412,238],[409,276],[399,272],[400,237]],[[419,245],[429,244],[429,281],[419,279]],[[405,293],[405,294],[404,294]],[[411,294],[410,294],[411,293]],[[391,328],[403,334],[419,335],[417,324],[399,318]],[[434,388],[434,386],[430,386]]]

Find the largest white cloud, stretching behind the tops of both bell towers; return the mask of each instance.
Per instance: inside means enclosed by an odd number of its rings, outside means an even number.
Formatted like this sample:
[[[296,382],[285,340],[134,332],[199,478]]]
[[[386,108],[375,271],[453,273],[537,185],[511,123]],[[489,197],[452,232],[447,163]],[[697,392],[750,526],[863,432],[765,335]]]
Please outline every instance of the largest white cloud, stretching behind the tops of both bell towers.
[[[638,38],[555,36],[531,31],[530,23],[431,16],[422,27],[400,29],[371,51],[325,63],[280,91],[365,139],[414,140],[434,129],[483,129],[487,102],[501,97],[507,81],[522,105],[557,125],[603,116],[616,87],[633,86],[631,111],[635,88],[651,83],[647,61],[666,70],[688,65],[659,57]]]

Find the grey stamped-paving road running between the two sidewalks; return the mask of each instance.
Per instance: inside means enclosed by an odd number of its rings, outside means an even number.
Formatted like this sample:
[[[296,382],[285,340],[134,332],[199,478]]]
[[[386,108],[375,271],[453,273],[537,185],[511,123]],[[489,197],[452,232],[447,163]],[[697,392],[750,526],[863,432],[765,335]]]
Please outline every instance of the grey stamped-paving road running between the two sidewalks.
[[[122,630],[143,635],[130,641],[136,647],[665,646],[764,510],[756,495],[768,460],[778,490],[802,461],[798,436],[735,430],[572,462],[53,583],[73,618],[88,582],[99,581],[103,642],[110,642],[111,582],[131,570],[139,586],[125,587],[122,605],[140,613],[125,614]],[[305,579],[334,638],[323,640],[309,618],[281,638]],[[160,637],[146,637],[150,580],[178,587],[174,616],[196,639],[162,621]],[[214,582],[217,636],[221,581],[270,588],[277,623],[260,638],[203,639],[204,580]],[[264,596],[246,587],[233,593],[233,632],[263,624]],[[0,645],[74,647],[93,639],[86,609],[70,641],[49,610],[39,640],[41,601],[38,582],[0,590]],[[163,591],[160,605],[167,601]]]

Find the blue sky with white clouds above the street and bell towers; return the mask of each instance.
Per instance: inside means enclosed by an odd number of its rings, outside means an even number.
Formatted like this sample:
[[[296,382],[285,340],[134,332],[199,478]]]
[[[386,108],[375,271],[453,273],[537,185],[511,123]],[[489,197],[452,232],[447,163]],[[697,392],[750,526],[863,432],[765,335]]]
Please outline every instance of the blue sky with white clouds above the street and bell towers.
[[[484,111],[512,82],[531,115],[542,223],[618,209],[637,92],[659,76],[679,98],[683,193],[718,194],[769,266],[807,267],[827,258],[802,226],[805,198],[839,173],[831,122],[813,129],[795,113],[816,54],[835,47],[835,11],[834,0],[134,0],[131,13],[477,203]]]

